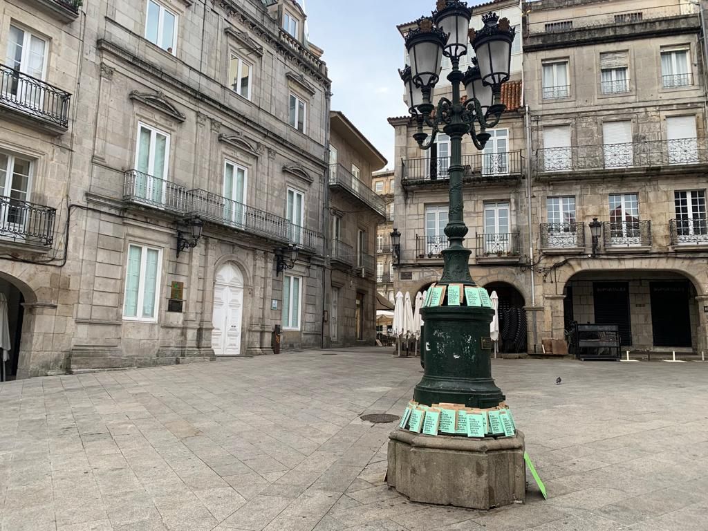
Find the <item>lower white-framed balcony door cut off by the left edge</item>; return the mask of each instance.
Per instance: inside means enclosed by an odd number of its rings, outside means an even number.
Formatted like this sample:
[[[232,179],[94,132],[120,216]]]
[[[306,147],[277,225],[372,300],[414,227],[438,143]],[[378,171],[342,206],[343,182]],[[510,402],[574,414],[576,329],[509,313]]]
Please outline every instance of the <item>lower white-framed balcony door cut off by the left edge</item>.
[[[13,239],[25,232],[32,161],[0,152],[0,236]]]

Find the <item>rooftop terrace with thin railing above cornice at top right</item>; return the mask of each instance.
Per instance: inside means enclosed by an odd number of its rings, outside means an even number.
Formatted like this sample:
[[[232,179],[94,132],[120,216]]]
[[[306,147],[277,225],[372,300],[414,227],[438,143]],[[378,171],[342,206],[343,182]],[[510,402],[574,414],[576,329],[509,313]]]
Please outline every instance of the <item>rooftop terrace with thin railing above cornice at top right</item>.
[[[554,11],[569,6],[566,1],[535,2],[535,14],[524,28],[524,50],[615,42],[632,36],[636,38],[638,35],[678,34],[686,33],[689,28],[700,28],[698,6],[690,2],[676,2],[670,6],[644,6],[641,2],[635,4],[639,5],[624,11],[606,8],[584,16],[570,16],[566,11],[554,19]],[[588,13],[581,9],[576,12]]]

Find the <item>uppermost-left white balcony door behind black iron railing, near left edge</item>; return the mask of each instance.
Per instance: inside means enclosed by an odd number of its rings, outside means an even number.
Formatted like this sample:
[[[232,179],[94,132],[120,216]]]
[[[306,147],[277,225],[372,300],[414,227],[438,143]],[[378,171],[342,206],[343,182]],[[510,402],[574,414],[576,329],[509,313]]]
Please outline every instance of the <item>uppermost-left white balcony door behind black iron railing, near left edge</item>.
[[[25,108],[42,110],[44,91],[38,81],[44,81],[47,74],[47,41],[27,30],[10,25],[5,64],[25,76],[4,72],[2,76],[4,99],[16,102]]]

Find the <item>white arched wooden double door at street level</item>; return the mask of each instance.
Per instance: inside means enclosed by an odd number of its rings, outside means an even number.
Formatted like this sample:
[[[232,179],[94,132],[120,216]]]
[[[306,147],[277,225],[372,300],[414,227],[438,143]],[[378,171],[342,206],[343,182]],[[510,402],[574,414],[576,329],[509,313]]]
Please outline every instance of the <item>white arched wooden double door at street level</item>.
[[[241,354],[241,321],[244,314],[244,275],[233,262],[217,271],[212,312],[212,348],[217,356]]]

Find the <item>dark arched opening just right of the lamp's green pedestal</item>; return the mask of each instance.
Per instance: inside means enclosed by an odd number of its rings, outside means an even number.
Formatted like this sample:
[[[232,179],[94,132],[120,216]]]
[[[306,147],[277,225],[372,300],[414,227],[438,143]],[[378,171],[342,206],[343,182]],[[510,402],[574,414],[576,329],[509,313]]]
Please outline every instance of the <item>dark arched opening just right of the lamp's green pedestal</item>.
[[[499,352],[525,353],[527,326],[523,295],[506,282],[491,282],[484,288],[489,295],[496,291],[499,297]]]

